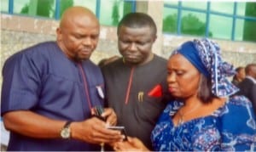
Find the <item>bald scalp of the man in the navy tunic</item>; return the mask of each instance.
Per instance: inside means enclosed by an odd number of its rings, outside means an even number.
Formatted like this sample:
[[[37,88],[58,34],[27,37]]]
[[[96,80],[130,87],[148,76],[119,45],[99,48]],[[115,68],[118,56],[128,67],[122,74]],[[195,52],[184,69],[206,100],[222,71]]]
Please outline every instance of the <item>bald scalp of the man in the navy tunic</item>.
[[[79,19],[81,20],[82,18],[83,19],[86,18],[86,20],[94,21],[97,24],[99,24],[96,18],[96,15],[93,14],[89,8],[76,6],[76,7],[67,8],[65,10],[65,12],[61,16],[60,27],[63,27],[67,24],[68,25],[72,24],[73,21],[76,21]]]

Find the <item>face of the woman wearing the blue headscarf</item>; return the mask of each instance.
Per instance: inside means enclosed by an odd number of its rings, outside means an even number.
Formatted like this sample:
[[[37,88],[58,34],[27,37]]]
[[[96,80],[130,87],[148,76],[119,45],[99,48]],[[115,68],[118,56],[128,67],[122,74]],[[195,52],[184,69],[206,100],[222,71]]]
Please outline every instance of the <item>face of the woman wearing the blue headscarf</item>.
[[[183,55],[173,55],[167,63],[167,83],[174,97],[187,99],[197,96],[201,73]]]

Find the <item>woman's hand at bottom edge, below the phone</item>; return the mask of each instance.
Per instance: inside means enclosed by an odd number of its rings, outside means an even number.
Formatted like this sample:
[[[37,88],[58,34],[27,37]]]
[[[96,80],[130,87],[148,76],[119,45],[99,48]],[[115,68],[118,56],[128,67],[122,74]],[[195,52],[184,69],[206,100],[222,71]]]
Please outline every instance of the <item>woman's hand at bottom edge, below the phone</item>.
[[[149,149],[138,138],[128,137],[127,141],[113,144],[115,151],[149,151]]]

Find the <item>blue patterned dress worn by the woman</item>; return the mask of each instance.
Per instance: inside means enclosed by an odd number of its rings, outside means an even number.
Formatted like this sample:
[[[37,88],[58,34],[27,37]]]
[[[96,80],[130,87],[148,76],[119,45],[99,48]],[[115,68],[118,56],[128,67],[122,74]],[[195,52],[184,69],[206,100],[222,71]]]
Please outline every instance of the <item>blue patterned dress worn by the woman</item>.
[[[174,127],[172,115],[175,115],[182,105],[182,102],[171,102],[160,115],[151,135],[154,150],[256,150],[255,115],[252,104],[246,98],[230,98],[212,115]]]

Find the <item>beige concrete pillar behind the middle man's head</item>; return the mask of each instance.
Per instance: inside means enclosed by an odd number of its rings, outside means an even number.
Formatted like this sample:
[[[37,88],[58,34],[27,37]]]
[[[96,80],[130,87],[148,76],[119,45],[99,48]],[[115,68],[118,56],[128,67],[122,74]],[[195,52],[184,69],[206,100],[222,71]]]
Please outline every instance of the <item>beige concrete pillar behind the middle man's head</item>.
[[[153,52],[162,54],[162,26],[163,26],[164,1],[137,1],[137,12],[149,14],[157,27],[157,39],[154,42]]]

